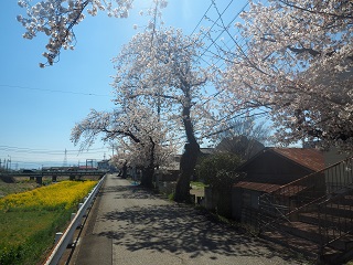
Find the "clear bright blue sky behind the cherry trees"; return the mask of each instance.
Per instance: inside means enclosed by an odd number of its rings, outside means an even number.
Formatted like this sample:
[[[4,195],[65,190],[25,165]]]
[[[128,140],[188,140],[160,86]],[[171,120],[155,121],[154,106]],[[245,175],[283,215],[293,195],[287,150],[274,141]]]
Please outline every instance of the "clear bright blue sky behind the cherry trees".
[[[138,15],[151,0],[138,0],[129,19],[108,18],[99,13],[76,26],[75,51],[63,51],[54,66],[40,68],[41,55],[47,39],[44,35],[29,41],[24,29],[15,20],[24,13],[15,0],[1,4],[0,31],[0,159],[10,160],[11,168],[40,168],[62,165],[67,150],[67,163],[84,163],[111,156],[109,146],[97,140],[88,151],[78,153],[69,140],[71,129],[90,108],[109,110],[114,107],[110,60],[121,45],[137,33],[133,24],[143,26],[146,18]],[[236,3],[233,3],[236,2]],[[246,1],[217,0],[220,10],[233,18]],[[167,25],[183,29],[190,34],[204,15],[211,0],[169,0],[163,19]],[[211,9],[207,13],[216,18]],[[201,25],[210,22],[203,20]]]

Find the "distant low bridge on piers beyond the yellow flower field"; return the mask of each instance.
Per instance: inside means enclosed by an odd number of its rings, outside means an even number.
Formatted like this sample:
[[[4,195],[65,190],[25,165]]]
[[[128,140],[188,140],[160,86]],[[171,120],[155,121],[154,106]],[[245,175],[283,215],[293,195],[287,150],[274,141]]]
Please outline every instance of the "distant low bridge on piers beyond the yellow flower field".
[[[36,170],[36,171],[22,171],[22,172],[2,172],[0,178],[6,182],[13,182],[13,178],[30,178],[38,183],[42,183],[43,177],[52,177],[52,181],[56,181],[57,177],[68,177],[69,180],[75,180],[84,176],[101,178],[107,173],[106,170]]]

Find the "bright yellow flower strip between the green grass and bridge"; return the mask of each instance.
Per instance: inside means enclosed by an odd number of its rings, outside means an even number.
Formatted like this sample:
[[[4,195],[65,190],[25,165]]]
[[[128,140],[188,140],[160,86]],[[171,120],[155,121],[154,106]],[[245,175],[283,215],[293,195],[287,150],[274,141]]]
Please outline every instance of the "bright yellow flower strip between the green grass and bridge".
[[[55,210],[76,205],[97,181],[62,181],[0,199],[0,211]]]

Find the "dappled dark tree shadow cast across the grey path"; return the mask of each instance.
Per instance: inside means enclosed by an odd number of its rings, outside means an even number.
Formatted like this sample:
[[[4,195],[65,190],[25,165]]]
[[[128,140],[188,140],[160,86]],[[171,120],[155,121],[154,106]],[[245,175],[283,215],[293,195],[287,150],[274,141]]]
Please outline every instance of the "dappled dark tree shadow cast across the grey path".
[[[125,189],[124,195],[117,194],[117,198],[143,199],[145,195],[145,190],[131,188],[130,191]],[[207,255],[212,259],[218,255],[296,259],[296,253],[213,222],[207,216],[204,211],[191,206],[173,203],[153,205],[151,202],[106,213],[100,221],[116,222],[115,231],[99,235],[114,239],[116,244],[130,252],[186,253],[191,258]]]

